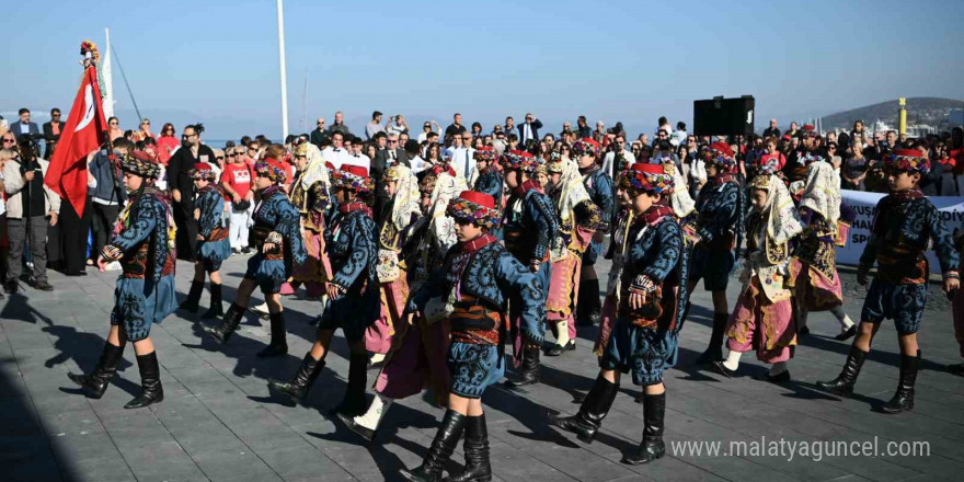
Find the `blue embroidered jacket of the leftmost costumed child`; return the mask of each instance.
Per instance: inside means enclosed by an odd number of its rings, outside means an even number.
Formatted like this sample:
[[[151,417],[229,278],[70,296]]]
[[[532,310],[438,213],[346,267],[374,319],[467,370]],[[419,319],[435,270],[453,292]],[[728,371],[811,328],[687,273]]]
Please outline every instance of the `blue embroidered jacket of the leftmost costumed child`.
[[[122,277],[154,282],[174,274],[173,218],[162,191],[149,186],[130,199],[120,215],[120,232],[103,249],[104,257],[120,262]]]

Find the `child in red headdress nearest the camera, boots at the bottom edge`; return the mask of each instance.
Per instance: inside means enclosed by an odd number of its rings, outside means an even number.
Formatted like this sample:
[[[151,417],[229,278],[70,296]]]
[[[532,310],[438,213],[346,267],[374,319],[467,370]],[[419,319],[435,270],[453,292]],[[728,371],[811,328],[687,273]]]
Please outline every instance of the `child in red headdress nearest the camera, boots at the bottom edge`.
[[[498,209],[487,194],[466,191],[451,200],[448,216],[456,219],[459,239],[437,271],[409,302],[406,312],[425,312],[431,300],[452,300],[446,323],[452,342],[448,349],[451,393],[441,426],[421,466],[403,469],[410,481],[438,481],[464,432],[466,469],[450,481],[492,479],[489,435],[482,395],[505,372],[502,346],[506,302],[515,298],[523,335],[542,343],[544,296],[535,273],[516,260],[489,229],[498,222]]]

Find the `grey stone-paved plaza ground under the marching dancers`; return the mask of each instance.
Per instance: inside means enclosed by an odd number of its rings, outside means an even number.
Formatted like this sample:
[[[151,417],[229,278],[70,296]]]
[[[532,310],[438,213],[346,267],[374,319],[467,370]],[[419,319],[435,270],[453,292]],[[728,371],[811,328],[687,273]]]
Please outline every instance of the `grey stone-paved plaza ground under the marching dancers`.
[[[231,300],[246,257],[225,263],[225,297]],[[600,277],[605,279],[604,263]],[[179,263],[177,289],[186,291],[193,269]],[[202,336],[197,315],[175,313],[154,325],[151,337],[161,365],[165,399],[147,410],[124,410],[140,390],[134,349],[101,400],[80,394],[68,371],[90,371],[108,329],[117,273],[89,271],[84,277],[51,273],[53,292],[24,288],[0,300],[0,481],[335,481],[398,480],[402,467],[425,455],[443,410],[431,398],[397,402],[375,444],[328,415],[345,390],[347,345],[338,337],[328,366],[305,405],[268,393],[266,379],[289,378],[314,340],[309,320],[317,301],[286,298],[289,354],[261,359],[254,353],[268,340],[267,322],[249,315],[227,346]],[[864,288],[845,274],[847,311],[859,318]],[[737,286],[731,283],[731,308]],[[604,282],[605,285],[605,282]],[[208,295],[202,298],[206,309]],[[260,299],[259,299],[260,302]],[[710,337],[711,301],[698,289],[680,338],[680,363],[667,372],[667,457],[630,467],[620,455],[639,444],[642,405],[638,387],[623,379],[622,393],[596,441],[547,424],[551,412],[575,413],[574,398],[597,374],[592,344],[596,329],[579,329],[578,348],[543,357],[542,383],[525,391],[497,386],[484,397],[492,443],[492,464],[503,481],[939,481],[964,474],[964,378],[945,370],[960,362],[946,298],[933,285],[920,334],[923,352],[914,412],[884,415],[873,408],[897,383],[896,332],[881,329],[853,399],[815,390],[815,382],[839,372],[849,342],[829,313],[814,313],[812,334],[790,363],[793,381],[758,381],[766,371],[744,356],[736,378],[726,379],[693,360]],[[227,307],[227,305],[226,305]],[[211,321],[206,321],[211,323]],[[376,370],[369,371],[374,381]],[[869,443],[879,452],[823,457],[745,450],[731,443],[772,447],[771,443]],[[722,441],[720,452],[677,450],[681,443]],[[884,454],[888,443],[929,448],[918,456]],[[848,445],[848,447],[860,444]],[[689,447],[695,448],[696,445]],[[827,448],[819,449],[826,452]],[[814,460],[819,459],[819,460]],[[462,462],[461,444],[452,469]]]

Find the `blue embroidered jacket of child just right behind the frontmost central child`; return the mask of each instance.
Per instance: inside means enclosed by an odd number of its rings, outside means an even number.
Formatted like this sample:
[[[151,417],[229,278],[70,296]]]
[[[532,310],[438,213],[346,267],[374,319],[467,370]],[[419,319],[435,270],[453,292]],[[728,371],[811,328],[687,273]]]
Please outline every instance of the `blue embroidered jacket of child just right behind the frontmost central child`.
[[[503,232],[505,246],[519,262],[529,265],[533,260],[548,260],[558,230],[555,209],[544,193],[529,188],[525,194],[509,196],[503,216]]]

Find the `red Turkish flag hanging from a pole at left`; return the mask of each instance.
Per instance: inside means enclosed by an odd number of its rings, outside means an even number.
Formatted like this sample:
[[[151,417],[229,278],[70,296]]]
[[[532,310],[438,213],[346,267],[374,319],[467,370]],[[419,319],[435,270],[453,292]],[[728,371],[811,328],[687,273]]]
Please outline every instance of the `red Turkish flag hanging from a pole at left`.
[[[87,157],[105,140],[107,122],[101,108],[96,68],[88,67],[44,176],[44,184],[67,199],[80,216],[87,199]]]

